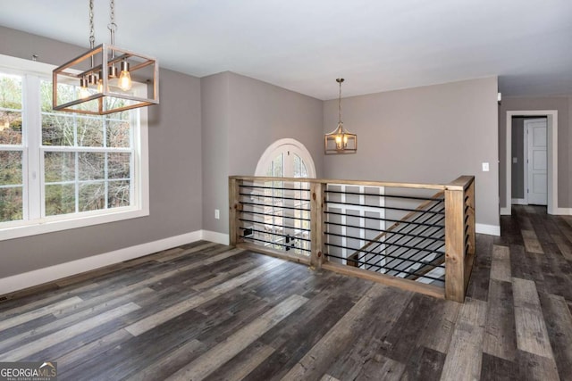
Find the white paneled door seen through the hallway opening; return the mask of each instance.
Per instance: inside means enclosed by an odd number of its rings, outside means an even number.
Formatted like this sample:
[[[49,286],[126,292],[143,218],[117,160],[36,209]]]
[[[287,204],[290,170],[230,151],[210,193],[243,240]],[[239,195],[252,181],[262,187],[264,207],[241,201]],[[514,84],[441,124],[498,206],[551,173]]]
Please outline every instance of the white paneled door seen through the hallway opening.
[[[546,205],[548,203],[546,119],[525,120],[525,129],[528,203]]]

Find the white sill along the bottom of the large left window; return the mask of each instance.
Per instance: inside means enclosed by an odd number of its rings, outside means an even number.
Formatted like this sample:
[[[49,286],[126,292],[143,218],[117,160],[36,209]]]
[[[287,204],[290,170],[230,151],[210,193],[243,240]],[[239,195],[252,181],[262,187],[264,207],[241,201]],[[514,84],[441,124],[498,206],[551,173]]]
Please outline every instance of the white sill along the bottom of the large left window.
[[[54,233],[57,231],[70,230],[73,228],[85,228],[93,225],[106,224],[109,222],[125,219],[137,219],[149,215],[148,208],[125,209],[122,211],[106,212],[105,214],[91,214],[73,219],[45,219],[36,222],[22,222],[21,225],[13,225],[0,228],[0,241],[21,238],[24,236],[36,236],[39,234]],[[69,217],[69,216],[68,216]]]

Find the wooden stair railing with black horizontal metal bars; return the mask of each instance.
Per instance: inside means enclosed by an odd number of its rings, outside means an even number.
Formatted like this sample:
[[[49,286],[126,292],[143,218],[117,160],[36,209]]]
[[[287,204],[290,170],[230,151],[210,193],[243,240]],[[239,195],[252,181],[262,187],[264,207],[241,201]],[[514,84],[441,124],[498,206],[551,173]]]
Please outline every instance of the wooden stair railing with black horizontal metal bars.
[[[442,185],[231,176],[229,206],[231,245],[465,298],[475,258],[472,176]]]

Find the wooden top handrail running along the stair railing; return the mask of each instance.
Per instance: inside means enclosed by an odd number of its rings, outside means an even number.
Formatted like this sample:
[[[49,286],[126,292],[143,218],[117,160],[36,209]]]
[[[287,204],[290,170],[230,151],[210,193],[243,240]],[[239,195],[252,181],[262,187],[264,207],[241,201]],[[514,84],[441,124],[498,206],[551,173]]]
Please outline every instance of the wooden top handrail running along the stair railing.
[[[397,183],[388,181],[365,181],[365,180],[341,180],[336,178],[272,178],[264,176],[229,176],[230,179],[246,181],[286,181],[321,184],[341,184],[349,186],[386,186],[416,189],[437,189],[437,190],[465,190],[475,181],[475,176],[461,176],[451,181],[449,184],[423,184],[423,183]]]

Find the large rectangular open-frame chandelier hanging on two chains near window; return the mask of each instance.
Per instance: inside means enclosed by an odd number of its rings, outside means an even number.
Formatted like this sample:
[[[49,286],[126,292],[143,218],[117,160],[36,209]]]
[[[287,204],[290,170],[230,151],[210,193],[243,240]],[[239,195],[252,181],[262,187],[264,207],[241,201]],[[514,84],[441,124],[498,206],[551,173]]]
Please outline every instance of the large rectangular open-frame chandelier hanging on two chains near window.
[[[105,115],[159,104],[157,60],[115,46],[114,0],[107,25],[111,44],[95,46],[93,3],[89,0],[89,51],[53,72],[54,110]]]

